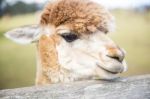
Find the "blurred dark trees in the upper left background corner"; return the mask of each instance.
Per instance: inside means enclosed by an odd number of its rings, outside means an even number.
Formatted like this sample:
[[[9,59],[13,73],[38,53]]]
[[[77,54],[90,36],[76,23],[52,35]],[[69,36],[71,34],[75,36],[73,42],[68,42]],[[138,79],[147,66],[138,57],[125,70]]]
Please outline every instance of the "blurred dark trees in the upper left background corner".
[[[6,0],[0,0],[0,17],[3,15],[18,15],[32,13],[40,10],[44,4],[37,3],[25,3],[22,1],[17,1],[14,4],[6,2]]]

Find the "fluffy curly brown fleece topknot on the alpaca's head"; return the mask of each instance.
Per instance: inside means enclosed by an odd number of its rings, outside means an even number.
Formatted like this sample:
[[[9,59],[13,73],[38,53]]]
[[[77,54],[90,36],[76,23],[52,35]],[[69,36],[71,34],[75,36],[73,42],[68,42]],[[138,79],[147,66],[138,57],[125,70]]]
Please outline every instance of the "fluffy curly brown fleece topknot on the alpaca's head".
[[[55,0],[41,16],[41,25],[67,25],[75,33],[109,32],[111,15],[101,5],[89,0]]]

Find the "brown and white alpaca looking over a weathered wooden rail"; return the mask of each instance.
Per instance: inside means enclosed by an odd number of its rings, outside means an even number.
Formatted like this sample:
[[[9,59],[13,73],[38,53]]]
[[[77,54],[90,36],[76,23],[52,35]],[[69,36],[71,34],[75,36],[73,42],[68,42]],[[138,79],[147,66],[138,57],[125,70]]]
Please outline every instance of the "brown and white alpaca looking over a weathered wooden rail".
[[[90,0],[53,0],[37,25],[5,33],[17,43],[36,43],[36,85],[114,79],[127,70],[125,52],[107,33],[113,16]]]

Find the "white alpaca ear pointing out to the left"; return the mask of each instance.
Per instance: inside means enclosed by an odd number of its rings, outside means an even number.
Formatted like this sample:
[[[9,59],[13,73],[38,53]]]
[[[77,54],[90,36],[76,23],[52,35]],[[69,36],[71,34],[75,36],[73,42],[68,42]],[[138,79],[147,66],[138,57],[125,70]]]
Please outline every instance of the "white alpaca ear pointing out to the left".
[[[37,41],[40,37],[40,27],[38,25],[27,25],[18,27],[5,33],[5,36],[16,43],[33,43]]]

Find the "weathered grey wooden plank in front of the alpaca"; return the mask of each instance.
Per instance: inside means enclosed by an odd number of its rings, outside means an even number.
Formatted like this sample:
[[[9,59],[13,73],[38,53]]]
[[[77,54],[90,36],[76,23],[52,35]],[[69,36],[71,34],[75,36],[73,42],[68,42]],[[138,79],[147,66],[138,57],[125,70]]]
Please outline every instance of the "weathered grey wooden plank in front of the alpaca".
[[[0,99],[150,99],[150,75],[7,89]]]

